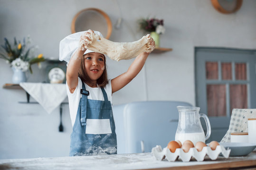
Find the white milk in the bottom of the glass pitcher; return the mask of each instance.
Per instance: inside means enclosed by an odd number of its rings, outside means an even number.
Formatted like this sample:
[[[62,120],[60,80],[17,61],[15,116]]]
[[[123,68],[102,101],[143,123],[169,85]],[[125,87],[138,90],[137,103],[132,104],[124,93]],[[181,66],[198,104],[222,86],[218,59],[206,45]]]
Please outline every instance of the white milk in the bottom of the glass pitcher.
[[[197,133],[176,133],[175,140],[179,140],[183,144],[186,140],[190,140],[194,145],[201,141],[205,143],[205,135],[203,132]]]

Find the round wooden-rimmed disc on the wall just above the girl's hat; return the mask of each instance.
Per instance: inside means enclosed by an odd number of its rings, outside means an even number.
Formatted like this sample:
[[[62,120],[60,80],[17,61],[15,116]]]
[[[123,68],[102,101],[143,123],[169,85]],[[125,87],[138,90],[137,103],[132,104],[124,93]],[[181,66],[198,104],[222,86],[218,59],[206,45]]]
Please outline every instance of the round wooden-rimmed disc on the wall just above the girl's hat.
[[[108,15],[98,8],[85,8],[79,11],[72,20],[72,34],[88,29],[99,31],[104,38],[109,39],[112,33],[112,23]]]

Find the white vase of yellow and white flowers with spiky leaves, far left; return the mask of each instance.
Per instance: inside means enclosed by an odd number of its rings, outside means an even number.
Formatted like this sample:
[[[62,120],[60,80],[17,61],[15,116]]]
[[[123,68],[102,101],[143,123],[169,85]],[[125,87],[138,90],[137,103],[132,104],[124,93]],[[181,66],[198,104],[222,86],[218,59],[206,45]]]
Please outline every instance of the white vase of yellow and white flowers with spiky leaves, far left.
[[[7,38],[4,39],[5,44],[1,45],[4,49],[4,53],[0,52],[0,58],[5,59],[10,64],[13,70],[12,82],[19,84],[27,81],[26,72],[28,69],[32,74],[31,65],[37,63],[38,67],[41,68],[40,62],[45,61],[43,54],[35,55],[34,51],[38,47],[28,47],[31,43],[30,37],[23,39],[23,43],[17,42],[14,38],[14,43],[10,44]]]

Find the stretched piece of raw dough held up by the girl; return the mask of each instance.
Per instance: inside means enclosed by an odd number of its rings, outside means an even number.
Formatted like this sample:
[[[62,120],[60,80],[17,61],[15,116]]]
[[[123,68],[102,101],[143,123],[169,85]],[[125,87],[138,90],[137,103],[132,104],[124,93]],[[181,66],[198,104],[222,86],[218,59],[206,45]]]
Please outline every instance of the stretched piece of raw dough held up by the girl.
[[[87,32],[87,35],[91,41],[88,41],[85,45],[86,49],[99,52],[107,55],[110,59],[119,61],[120,59],[132,59],[137,57],[142,52],[151,52],[155,49],[153,45],[150,45],[150,34],[143,36],[140,40],[135,42],[112,42],[98,34],[93,32]]]

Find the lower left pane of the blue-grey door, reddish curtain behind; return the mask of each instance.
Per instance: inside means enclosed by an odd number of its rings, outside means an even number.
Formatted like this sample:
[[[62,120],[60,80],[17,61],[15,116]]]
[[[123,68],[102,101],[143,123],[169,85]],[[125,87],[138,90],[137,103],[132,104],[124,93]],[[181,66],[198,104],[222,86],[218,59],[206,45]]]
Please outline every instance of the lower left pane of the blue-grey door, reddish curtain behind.
[[[226,85],[207,85],[208,116],[226,116]]]

